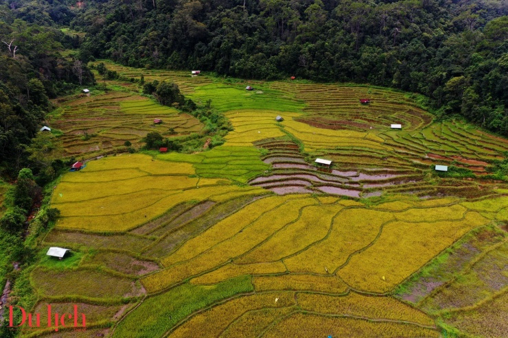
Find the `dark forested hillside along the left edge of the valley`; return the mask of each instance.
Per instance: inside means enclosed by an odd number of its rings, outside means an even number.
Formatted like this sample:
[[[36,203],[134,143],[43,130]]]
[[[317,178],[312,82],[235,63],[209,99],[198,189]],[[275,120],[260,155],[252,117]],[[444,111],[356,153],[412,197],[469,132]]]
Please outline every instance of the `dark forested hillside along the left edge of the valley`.
[[[27,150],[53,108],[50,99],[94,79],[79,57],[60,54],[65,34],[12,19],[10,12],[0,11],[0,175],[15,178],[23,167],[36,174],[46,167],[32,162]]]

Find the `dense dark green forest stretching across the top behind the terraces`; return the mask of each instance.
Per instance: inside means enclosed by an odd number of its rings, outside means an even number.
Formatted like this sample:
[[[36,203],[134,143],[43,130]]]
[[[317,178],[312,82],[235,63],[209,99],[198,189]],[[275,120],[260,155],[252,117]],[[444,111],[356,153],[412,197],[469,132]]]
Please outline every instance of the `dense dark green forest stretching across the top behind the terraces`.
[[[508,135],[507,14],[487,0],[111,0],[71,25],[83,54],[132,67],[390,86]]]

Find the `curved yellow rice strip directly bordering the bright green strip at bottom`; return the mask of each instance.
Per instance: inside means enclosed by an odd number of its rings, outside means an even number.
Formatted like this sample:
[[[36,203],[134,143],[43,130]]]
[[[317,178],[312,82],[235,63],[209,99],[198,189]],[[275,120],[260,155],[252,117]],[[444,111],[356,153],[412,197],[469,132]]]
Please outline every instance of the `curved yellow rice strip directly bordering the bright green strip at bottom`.
[[[275,301],[277,299],[277,302]],[[235,298],[212,309],[198,313],[178,326],[170,335],[172,338],[218,337],[233,320],[247,311],[265,308],[284,308],[295,304],[292,292],[270,292]]]

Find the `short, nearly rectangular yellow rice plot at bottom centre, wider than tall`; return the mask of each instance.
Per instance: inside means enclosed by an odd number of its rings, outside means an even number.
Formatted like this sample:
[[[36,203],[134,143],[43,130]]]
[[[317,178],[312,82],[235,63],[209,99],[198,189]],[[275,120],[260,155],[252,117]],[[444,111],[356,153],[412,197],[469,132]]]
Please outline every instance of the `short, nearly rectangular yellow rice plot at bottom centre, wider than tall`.
[[[317,276],[311,274],[255,276],[253,284],[256,291],[293,290],[325,293],[343,293],[347,291],[347,285],[336,276]]]

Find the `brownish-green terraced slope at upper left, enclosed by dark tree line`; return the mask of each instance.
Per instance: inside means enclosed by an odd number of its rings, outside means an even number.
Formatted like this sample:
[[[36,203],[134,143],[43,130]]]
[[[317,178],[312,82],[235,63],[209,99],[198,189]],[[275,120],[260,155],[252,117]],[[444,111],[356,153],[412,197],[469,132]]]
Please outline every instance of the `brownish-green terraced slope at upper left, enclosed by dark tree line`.
[[[162,119],[163,123],[154,124],[154,119]],[[148,132],[172,137],[203,128],[189,114],[179,114],[174,108],[124,91],[71,97],[62,103],[49,125],[63,133],[59,139],[64,156],[84,159],[124,152],[126,141],[139,147],[139,141]]]

